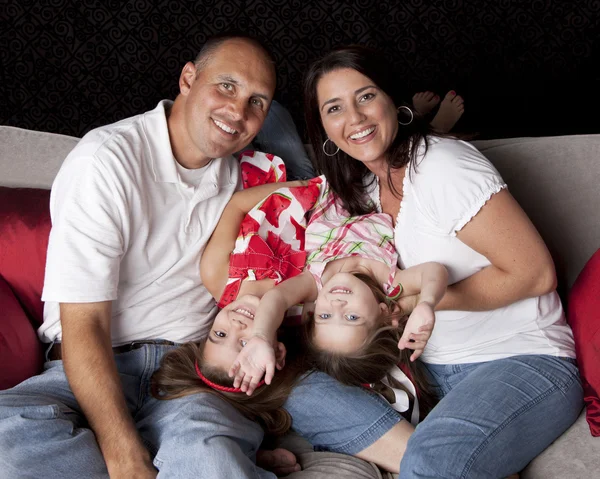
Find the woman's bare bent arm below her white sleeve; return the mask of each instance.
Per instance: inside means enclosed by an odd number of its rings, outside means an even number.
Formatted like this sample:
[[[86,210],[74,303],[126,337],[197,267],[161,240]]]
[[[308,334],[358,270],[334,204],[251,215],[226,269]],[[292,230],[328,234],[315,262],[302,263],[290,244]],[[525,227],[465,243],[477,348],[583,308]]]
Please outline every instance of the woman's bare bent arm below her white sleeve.
[[[449,286],[437,309],[489,311],[556,288],[548,248],[507,190],[492,196],[457,236],[492,264]]]

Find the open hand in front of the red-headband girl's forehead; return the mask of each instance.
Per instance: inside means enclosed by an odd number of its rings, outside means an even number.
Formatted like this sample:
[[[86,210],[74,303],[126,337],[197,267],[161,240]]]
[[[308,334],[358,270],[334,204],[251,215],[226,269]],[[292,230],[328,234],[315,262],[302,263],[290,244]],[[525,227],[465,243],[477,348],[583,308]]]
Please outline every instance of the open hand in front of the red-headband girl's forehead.
[[[275,365],[273,344],[265,338],[253,336],[235,358],[229,377],[235,376],[233,386],[251,396],[263,376],[265,383],[271,384]]]

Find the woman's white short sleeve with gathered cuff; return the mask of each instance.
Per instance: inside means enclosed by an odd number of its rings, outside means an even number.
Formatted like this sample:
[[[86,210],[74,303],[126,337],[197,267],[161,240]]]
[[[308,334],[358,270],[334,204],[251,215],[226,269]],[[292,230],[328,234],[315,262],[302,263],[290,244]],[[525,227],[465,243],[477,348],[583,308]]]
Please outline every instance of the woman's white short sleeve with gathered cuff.
[[[441,234],[455,236],[506,183],[474,146],[431,139],[410,181],[418,208]]]

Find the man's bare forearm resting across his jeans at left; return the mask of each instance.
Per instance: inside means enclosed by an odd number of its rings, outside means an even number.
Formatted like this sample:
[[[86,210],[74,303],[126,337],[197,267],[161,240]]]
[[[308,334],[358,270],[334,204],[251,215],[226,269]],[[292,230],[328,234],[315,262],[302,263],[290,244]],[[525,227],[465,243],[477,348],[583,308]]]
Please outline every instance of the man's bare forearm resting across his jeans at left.
[[[78,311],[77,305],[70,306],[73,308],[61,305],[65,372],[96,435],[109,473],[116,468],[122,470],[127,464],[151,466],[150,454],[127,409],[114,362],[110,329],[106,331],[101,322],[90,320],[85,309]],[[65,309],[67,317],[63,316]]]

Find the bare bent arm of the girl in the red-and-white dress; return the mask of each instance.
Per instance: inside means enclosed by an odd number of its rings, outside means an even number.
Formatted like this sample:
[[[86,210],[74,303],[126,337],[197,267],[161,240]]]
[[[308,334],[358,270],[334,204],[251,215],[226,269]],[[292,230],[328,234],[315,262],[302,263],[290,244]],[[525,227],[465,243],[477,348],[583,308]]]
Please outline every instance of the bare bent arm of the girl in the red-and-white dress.
[[[229,256],[235,247],[240,225],[248,212],[278,189],[304,186],[306,183],[306,181],[267,183],[238,191],[231,197],[200,259],[202,283],[213,298],[219,299],[223,294],[229,276]]]

